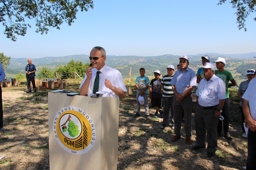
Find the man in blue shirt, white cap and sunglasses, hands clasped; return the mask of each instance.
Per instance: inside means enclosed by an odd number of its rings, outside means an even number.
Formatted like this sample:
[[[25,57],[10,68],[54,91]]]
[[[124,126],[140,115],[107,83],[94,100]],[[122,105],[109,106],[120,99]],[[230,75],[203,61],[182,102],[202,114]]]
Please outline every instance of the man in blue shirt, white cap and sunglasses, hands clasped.
[[[188,68],[189,59],[187,55],[180,58],[180,69],[175,72],[171,85],[173,96],[173,113],[174,113],[174,133],[172,142],[180,138],[182,110],[185,116],[185,133],[186,144],[191,144],[191,128],[192,128],[192,97],[191,93],[196,87],[196,73]]]

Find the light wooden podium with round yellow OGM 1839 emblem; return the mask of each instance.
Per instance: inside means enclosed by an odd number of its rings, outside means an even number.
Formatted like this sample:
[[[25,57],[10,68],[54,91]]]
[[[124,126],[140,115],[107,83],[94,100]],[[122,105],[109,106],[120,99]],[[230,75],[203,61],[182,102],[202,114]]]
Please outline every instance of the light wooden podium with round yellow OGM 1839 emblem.
[[[65,107],[65,108],[64,108]],[[79,109],[78,109],[79,108]],[[70,111],[66,111],[66,110]],[[69,113],[73,113],[74,110],[78,109],[78,115],[74,116]],[[62,110],[62,111],[61,111]],[[72,111],[73,110],[73,111]],[[61,170],[116,170],[117,169],[117,145],[118,145],[118,121],[119,121],[119,99],[118,98],[91,98],[87,96],[67,96],[63,93],[48,93],[48,112],[49,112],[49,156],[50,156],[50,169],[61,169]],[[67,113],[67,114],[65,114]],[[89,151],[83,154],[73,154],[71,152],[76,152],[68,149],[65,149],[60,142],[58,143],[59,138],[62,134],[67,134],[71,129],[71,124],[69,123],[75,121],[75,119],[80,119],[79,116],[89,115],[90,119],[93,121],[94,128],[96,130],[96,139],[92,140],[92,147]],[[65,122],[66,125],[62,125],[62,117],[67,117],[69,114],[68,120]],[[80,115],[79,115],[80,114]],[[57,116],[62,116],[58,118]],[[72,117],[71,117],[71,116]],[[86,116],[88,118],[89,116]],[[63,118],[63,120],[67,118]],[[71,118],[70,118],[71,117]],[[76,118],[78,117],[78,118]],[[59,120],[60,119],[60,120]],[[59,124],[58,124],[59,121]],[[81,122],[81,121],[80,121]],[[56,129],[59,131],[56,132]],[[77,123],[76,123],[77,124]],[[84,140],[84,146],[90,144],[90,125],[85,128],[86,123],[83,126],[81,123],[82,129],[81,136],[84,134],[88,137],[87,140]],[[70,128],[67,132],[67,126]],[[62,127],[62,129],[60,128]],[[64,127],[64,128],[63,128]],[[80,125],[77,126],[80,128]],[[84,127],[84,128],[83,128]],[[65,129],[66,128],[66,129]],[[88,130],[88,132],[86,130]],[[61,133],[60,133],[61,132]],[[92,133],[95,131],[92,130]],[[59,134],[57,134],[59,133]],[[71,133],[71,132],[70,132]],[[73,131],[72,131],[73,133]],[[85,134],[86,133],[86,134]],[[88,133],[88,134],[87,134]],[[77,134],[75,134],[77,135]],[[75,136],[73,135],[73,136]],[[58,137],[56,137],[58,136]],[[71,135],[72,136],[72,135]],[[77,135],[78,136],[78,135]],[[80,137],[80,136],[79,136]],[[77,137],[77,138],[79,138]],[[94,136],[92,136],[93,138]],[[68,138],[68,137],[67,137]],[[72,139],[68,142],[64,137],[65,142],[67,141],[68,146],[78,146],[80,139],[74,139],[78,141],[76,144],[72,143]],[[72,138],[72,137],[70,137]],[[81,137],[82,138],[82,137]],[[87,139],[87,138],[86,138]],[[81,139],[82,141],[82,139]],[[63,141],[62,141],[63,142]],[[66,144],[66,143],[65,143]],[[89,146],[88,146],[89,147]],[[64,148],[64,149],[63,149]],[[67,151],[68,150],[68,151]],[[80,152],[80,151],[79,151]]]

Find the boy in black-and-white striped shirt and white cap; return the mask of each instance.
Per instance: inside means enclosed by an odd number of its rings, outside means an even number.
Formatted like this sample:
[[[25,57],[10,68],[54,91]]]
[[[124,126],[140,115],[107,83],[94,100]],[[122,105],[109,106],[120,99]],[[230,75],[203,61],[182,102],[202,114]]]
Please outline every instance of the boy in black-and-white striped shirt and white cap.
[[[172,129],[174,129],[174,114],[172,109],[174,93],[172,92],[172,85],[170,84],[170,82],[172,80],[172,77],[174,75],[173,73],[175,70],[173,65],[168,65],[166,69],[167,69],[167,75],[163,77],[161,82],[161,86],[164,89],[164,92],[163,92],[164,120],[160,128],[164,129],[168,124],[169,112],[171,108],[171,123],[172,123]]]

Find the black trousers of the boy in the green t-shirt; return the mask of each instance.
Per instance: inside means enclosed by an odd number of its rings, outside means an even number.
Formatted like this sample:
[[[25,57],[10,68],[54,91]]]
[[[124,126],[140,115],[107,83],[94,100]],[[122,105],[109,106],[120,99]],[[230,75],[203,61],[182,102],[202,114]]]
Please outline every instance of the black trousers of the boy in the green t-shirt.
[[[228,119],[229,106],[230,106],[229,98],[226,98],[226,99],[225,99],[224,106],[223,106],[223,108],[222,108],[222,113],[221,113],[221,115],[224,117],[224,120],[221,121],[221,120],[219,119],[218,126],[217,126],[217,132],[218,132],[219,134],[221,134],[222,122],[223,122],[224,134],[225,134],[225,135],[229,134],[229,127],[228,127],[228,126],[229,126],[229,119]]]

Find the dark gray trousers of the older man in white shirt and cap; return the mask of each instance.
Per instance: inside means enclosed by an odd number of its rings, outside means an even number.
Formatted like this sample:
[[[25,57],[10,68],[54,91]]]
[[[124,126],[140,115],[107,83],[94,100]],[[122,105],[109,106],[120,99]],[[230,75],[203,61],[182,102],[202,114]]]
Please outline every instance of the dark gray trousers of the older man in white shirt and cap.
[[[216,109],[201,109],[196,103],[195,123],[196,123],[196,145],[205,147],[205,137],[207,130],[207,149],[208,152],[215,152],[218,149],[217,125],[219,119],[214,117]]]

